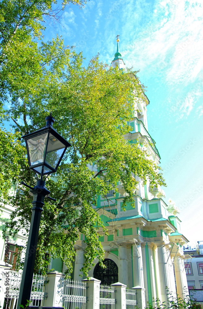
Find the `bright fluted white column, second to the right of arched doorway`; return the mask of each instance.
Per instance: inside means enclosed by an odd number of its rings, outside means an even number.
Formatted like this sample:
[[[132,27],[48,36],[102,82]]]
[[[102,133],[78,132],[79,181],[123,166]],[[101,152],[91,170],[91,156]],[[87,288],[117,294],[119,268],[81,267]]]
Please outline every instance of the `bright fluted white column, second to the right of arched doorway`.
[[[133,254],[133,286],[141,286],[144,288],[144,273],[142,264],[141,244],[134,244],[132,248]]]

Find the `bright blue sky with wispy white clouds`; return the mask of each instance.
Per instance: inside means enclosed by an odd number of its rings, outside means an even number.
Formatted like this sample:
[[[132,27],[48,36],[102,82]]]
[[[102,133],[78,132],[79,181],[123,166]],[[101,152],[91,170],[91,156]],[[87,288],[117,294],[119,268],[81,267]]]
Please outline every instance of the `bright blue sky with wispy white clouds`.
[[[193,0],[90,0],[66,7],[47,23],[45,39],[61,35],[88,64],[100,54],[111,64],[120,52],[150,100],[148,131],[161,156],[167,188],[180,209],[181,232],[194,247],[203,240],[203,3]]]

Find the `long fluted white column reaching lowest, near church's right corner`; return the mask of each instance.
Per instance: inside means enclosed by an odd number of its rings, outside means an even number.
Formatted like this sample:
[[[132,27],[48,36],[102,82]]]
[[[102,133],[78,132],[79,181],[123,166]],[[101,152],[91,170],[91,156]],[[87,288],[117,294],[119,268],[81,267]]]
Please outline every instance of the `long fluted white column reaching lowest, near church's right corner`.
[[[167,269],[167,252],[165,245],[160,245],[158,248],[158,262],[159,262],[159,277],[161,286],[161,301],[168,302],[168,291],[170,288],[169,274]]]

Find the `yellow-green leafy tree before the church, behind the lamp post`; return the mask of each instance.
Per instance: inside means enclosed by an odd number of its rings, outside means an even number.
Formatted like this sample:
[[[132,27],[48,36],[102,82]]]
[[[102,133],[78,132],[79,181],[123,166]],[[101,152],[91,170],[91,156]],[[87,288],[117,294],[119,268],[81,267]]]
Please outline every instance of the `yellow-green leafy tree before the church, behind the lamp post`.
[[[53,79],[53,75],[57,78]],[[26,106],[18,100],[10,110],[15,119],[26,120],[23,125],[17,121],[14,125],[21,134],[42,127],[45,116],[52,111],[57,119],[54,127],[72,145],[55,178],[49,177],[46,183],[57,202],[46,201],[44,205],[35,271],[45,271],[46,252],[64,260],[67,272],[71,271],[74,243],[82,233],[87,243],[82,271],[87,275],[97,254],[100,263],[104,257],[97,231],[102,226],[105,233],[106,228],[92,208],[98,195],[106,195],[112,185],[116,190],[121,180],[128,193],[125,207],[127,201],[133,201],[136,181],[132,174],[144,183],[148,178],[151,186],[162,185],[164,180],[149,154],[138,143],[129,144],[123,137],[130,130],[127,121],[132,117],[134,100],[142,98],[142,88],[130,70],[113,70],[99,62],[98,55],[84,68],[82,54],[71,53],[68,64],[60,63],[60,70],[52,66],[49,77],[49,82],[39,83],[37,95],[29,95]],[[91,171],[93,165],[96,172]],[[19,178],[34,185],[34,176],[25,162],[21,169],[24,173]],[[31,201],[27,189],[18,189],[15,197],[10,197],[10,202],[18,205],[7,223],[10,235],[22,227],[27,235]]]

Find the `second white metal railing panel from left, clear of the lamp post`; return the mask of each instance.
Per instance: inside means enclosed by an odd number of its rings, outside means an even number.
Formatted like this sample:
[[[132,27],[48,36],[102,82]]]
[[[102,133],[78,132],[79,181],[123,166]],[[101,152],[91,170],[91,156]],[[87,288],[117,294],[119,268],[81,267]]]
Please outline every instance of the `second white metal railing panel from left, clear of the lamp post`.
[[[63,287],[64,309],[86,309],[87,283],[80,281],[64,280]]]

